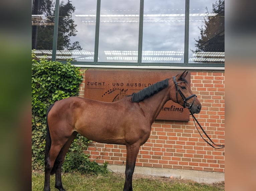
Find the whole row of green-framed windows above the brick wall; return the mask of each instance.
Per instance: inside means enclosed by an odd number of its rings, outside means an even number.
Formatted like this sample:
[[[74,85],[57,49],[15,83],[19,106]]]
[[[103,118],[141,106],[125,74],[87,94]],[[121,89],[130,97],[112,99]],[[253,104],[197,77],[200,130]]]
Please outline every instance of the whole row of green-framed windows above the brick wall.
[[[224,15],[224,0],[34,0],[32,49],[79,65],[224,67]]]

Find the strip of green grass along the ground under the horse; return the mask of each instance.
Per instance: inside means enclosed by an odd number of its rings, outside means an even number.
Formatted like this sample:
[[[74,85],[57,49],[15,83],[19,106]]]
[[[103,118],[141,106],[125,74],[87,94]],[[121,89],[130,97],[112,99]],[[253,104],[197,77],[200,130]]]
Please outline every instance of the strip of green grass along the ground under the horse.
[[[224,183],[199,184],[193,181],[158,178],[134,175],[133,191],[224,191]],[[42,191],[44,174],[32,172],[32,191]],[[55,187],[55,176],[50,178],[51,191],[58,191]],[[123,190],[124,175],[109,173],[107,175],[83,175],[80,173],[65,173],[62,184],[66,191],[118,191]]]

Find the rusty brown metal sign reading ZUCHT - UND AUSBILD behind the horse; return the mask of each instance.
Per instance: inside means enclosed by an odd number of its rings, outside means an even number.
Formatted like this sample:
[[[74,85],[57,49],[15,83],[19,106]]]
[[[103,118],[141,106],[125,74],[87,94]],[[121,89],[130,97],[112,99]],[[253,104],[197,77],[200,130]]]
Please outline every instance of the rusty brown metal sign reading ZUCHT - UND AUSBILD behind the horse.
[[[113,102],[180,72],[87,70],[85,98]],[[186,79],[190,87],[190,73]],[[156,119],[189,121],[189,111],[169,100]]]

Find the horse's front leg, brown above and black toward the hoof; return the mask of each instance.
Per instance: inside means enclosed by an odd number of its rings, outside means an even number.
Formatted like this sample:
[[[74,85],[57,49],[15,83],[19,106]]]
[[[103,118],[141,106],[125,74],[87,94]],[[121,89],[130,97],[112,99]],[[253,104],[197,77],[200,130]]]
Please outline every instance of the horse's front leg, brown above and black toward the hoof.
[[[126,145],[125,183],[123,191],[132,191],[132,175],[140,145]]]

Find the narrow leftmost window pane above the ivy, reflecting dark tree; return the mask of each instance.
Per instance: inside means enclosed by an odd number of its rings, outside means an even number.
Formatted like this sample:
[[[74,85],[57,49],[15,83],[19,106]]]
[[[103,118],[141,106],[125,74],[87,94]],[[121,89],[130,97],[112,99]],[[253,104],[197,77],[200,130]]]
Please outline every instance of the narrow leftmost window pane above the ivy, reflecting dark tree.
[[[47,55],[51,60],[55,0],[34,0],[32,5],[32,50],[36,59]]]

